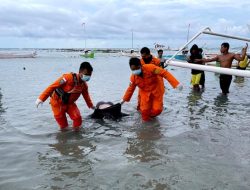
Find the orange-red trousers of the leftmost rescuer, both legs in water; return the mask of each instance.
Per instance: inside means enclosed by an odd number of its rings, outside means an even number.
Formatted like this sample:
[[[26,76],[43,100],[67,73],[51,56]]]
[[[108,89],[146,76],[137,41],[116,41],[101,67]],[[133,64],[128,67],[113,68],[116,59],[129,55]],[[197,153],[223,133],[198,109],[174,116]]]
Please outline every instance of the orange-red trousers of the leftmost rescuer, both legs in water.
[[[54,113],[54,118],[57,121],[61,129],[68,127],[68,120],[66,113],[73,120],[73,128],[79,128],[82,125],[81,113],[75,103],[70,103],[67,105],[59,104],[52,105],[52,111]]]

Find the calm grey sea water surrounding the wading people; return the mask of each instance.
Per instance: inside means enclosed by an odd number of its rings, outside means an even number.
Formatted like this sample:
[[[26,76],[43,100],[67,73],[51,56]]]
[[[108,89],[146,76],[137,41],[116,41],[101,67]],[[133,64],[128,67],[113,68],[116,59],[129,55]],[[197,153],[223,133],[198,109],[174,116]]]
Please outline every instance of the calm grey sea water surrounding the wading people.
[[[38,51],[35,59],[0,60],[0,189],[250,189],[250,79],[233,79],[220,94],[218,76],[206,73],[206,89],[194,93],[190,70],[169,67],[184,84],[170,87],[165,109],[142,123],[137,92],[121,121],[93,120],[79,98],[80,132],[61,132],[49,101],[39,94],[61,74],[94,68],[94,103],[117,102],[129,84],[128,57]],[[25,70],[24,70],[25,68]]]

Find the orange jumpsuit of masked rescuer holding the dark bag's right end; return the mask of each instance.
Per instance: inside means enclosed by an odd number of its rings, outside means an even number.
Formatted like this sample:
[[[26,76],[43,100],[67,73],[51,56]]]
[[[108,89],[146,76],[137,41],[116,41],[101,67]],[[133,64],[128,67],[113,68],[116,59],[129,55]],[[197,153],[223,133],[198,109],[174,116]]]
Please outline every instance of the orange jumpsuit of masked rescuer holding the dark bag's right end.
[[[164,89],[162,80],[165,78],[173,88],[179,85],[179,81],[168,71],[153,64],[142,66],[142,76],[131,75],[130,86],[127,88],[124,101],[130,101],[136,86],[140,90],[140,110],[142,119],[147,121],[150,117],[159,115],[163,110]]]

